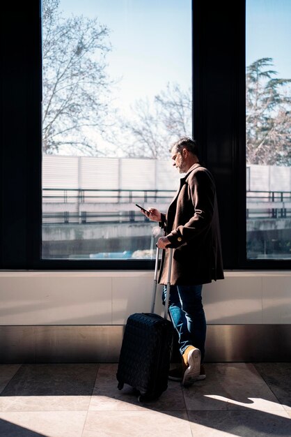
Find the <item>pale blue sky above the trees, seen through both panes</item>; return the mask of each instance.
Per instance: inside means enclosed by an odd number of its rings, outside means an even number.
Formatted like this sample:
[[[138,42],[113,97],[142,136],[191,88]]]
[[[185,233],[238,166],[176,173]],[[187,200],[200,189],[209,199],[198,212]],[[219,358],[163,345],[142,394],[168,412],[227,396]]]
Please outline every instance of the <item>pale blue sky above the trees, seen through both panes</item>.
[[[191,86],[191,0],[61,0],[61,9],[111,29],[108,71],[125,105],[167,82]],[[246,65],[272,57],[278,77],[290,78],[290,41],[291,0],[246,0]]]

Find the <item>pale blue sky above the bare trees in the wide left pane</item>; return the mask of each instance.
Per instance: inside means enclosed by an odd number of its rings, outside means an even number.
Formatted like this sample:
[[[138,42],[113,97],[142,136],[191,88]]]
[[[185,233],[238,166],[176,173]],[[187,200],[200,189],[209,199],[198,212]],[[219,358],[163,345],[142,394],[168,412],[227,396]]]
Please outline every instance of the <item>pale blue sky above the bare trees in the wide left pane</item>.
[[[178,82],[191,87],[191,0],[61,0],[66,15],[98,17],[111,29],[108,71],[124,105]]]

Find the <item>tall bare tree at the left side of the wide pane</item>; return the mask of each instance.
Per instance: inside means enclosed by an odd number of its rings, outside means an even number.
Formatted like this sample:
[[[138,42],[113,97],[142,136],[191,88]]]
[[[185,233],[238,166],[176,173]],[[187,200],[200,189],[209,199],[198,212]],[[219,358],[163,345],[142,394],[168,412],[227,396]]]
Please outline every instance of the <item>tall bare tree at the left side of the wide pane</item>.
[[[97,154],[88,128],[106,128],[109,29],[83,16],[64,18],[59,0],[43,0],[42,64],[43,151],[65,149]]]

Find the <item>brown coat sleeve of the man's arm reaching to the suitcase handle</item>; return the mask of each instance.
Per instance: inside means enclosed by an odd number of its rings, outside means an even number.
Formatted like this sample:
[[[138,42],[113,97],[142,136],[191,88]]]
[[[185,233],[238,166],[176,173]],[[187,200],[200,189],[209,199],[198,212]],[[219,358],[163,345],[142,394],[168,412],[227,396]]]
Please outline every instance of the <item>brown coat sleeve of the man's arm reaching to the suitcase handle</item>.
[[[205,170],[190,175],[188,193],[188,205],[184,205],[184,199],[178,199],[175,212],[178,223],[183,223],[183,221],[186,221],[186,223],[178,225],[167,235],[171,247],[174,248],[187,244],[191,239],[209,228],[212,223],[215,198],[215,186],[212,176]],[[187,209],[189,213],[186,219],[183,209]]]

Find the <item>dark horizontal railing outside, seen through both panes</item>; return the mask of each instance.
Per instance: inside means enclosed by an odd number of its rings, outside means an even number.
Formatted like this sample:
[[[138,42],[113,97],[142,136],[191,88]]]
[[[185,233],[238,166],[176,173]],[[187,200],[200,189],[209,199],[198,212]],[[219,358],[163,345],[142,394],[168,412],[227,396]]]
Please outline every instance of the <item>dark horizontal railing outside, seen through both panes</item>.
[[[139,223],[148,219],[135,203],[166,211],[173,190],[44,188],[43,223]],[[247,191],[246,218],[291,217],[290,191]]]

